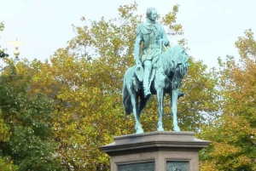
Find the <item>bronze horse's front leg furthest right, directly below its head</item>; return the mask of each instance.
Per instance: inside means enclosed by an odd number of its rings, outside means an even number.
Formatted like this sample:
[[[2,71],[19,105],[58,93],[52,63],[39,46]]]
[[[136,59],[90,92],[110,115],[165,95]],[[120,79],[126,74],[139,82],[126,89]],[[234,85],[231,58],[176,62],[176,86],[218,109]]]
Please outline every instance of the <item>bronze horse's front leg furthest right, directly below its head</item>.
[[[174,131],[180,131],[180,128],[177,126],[177,96],[178,88],[172,89],[172,124]]]

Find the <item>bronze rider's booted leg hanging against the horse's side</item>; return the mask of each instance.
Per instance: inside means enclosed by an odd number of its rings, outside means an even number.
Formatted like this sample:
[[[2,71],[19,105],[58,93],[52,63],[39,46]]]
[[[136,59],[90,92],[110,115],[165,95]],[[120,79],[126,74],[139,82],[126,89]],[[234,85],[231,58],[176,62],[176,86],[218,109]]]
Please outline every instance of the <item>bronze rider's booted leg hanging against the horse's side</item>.
[[[151,94],[149,90],[149,77],[151,74],[151,67],[152,67],[151,60],[145,60],[143,62],[143,66],[144,66],[144,77],[143,77],[144,96],[148,97]]]

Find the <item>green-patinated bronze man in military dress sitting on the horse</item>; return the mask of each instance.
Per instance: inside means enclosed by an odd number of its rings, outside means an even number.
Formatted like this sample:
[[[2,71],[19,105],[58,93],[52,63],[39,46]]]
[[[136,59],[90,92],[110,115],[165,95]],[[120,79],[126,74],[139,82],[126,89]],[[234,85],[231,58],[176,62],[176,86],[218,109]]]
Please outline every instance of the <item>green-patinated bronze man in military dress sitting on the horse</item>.
[[[160,24],[156,23],[157,11],[154,8],[147,9],[147,21],[137,28],[136,41],[134,45],[134,60],[137,65],[143,65],[143,89],[144,96],[148,97],[150,92],[149,79],[154,63],[160,58],[160,46],[169,44],[166,32]],[[142,52],[140,45],[143,43]],[[141,55],[140,55],[141,54]]]

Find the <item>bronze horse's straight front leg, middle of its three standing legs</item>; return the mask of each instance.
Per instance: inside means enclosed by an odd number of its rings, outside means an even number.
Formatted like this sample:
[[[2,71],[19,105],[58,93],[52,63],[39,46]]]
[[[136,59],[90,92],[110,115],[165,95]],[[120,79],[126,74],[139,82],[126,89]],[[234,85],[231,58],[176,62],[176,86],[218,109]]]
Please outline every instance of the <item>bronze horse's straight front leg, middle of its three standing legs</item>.
[[[157,101],[158,101],[158,113],[159,113],[159,120],[158,120],[158,131],[164,131],[165,129],[163,128],[163,98],[164,98],[164,93],[163,89],[160,88],[157,90]]]

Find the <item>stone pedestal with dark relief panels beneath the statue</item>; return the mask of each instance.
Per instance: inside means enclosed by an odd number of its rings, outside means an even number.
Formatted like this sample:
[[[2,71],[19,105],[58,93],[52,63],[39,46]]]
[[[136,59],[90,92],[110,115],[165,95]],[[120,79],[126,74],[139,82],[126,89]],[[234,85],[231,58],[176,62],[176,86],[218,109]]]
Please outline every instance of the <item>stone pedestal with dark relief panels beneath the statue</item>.
[[[193,132],[150,132],[113,138],[100,149],[110,156],[111,171],[198,171],[198,151],[210,141]]]

